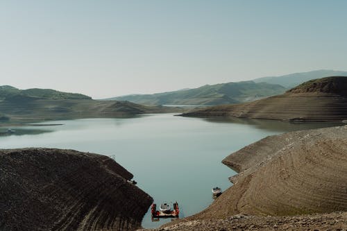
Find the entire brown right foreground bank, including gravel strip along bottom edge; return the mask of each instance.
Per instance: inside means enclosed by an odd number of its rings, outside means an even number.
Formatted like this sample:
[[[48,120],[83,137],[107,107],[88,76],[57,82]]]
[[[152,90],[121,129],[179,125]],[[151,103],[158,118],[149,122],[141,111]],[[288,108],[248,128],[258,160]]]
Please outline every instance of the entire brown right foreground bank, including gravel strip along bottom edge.
[[[347,126],[266,137],[223,164],[234,185],[164,230],[347,229]]]

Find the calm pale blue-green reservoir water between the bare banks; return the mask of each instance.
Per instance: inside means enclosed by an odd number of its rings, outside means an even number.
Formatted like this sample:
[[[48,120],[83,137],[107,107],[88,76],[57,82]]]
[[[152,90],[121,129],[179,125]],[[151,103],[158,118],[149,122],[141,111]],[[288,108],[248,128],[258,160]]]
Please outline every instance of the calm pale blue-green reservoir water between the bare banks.
[[[20,135],[1,136],[0,148],[71,148],[115,155],[117,162],[133,173],[137,186],[153,196],[156,203],[177,200],[180,217],[200,212],[212,203],[212,187],[230,187],[228,176],[235,172],[221,164],[230,153],[268,135],[332,126],[244,119],[205,120],[173,114],[56,123],[63,125],[21,127]],[[143,226],[157,227],[168,221],[161,219],[153,223],[147,213]]]

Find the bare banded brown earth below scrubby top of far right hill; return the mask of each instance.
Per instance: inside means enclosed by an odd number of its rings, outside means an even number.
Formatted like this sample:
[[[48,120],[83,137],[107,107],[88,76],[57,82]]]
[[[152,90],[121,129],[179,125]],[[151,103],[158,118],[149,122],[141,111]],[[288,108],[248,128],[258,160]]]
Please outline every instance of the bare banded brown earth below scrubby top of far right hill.
[[[282,94],[259,101],[221,105],[182,114],[185,117],[239,117],[285,121],[343,121],[347,97],[334,94]]]

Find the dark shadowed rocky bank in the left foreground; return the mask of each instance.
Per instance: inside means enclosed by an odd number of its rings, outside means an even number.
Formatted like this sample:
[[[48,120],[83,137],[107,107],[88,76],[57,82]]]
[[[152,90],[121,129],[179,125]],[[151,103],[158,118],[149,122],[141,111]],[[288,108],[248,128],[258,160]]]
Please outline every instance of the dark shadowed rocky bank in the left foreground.
[[[103,155],[0,150],[0,230],[134,230],[153,199]]]

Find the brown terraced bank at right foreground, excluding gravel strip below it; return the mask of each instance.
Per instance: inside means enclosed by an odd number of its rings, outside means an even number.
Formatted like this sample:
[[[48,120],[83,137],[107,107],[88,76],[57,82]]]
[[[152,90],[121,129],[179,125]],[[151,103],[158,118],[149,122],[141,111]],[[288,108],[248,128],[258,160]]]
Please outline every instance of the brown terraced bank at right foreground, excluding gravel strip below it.
[[[194,219],[347,211],[347,126],[266,137],[223,164],[235,185]]]

